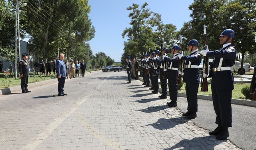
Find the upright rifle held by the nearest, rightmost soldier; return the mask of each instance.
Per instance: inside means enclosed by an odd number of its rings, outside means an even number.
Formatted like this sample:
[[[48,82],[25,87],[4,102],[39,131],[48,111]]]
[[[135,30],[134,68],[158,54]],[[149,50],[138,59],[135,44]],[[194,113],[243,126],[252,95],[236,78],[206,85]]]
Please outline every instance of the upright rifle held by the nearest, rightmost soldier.
[[[207,34],[206,34],[206,25],[204,24],[204,45],[206,49],[208,49],[207,44]],[[208,58],[204,56],[204,64],[203,64],[203,72],[201,75],[201,92],[207,92],[208,91],[208,81],[207,77],[203,78],[203,74],[208,74]]]

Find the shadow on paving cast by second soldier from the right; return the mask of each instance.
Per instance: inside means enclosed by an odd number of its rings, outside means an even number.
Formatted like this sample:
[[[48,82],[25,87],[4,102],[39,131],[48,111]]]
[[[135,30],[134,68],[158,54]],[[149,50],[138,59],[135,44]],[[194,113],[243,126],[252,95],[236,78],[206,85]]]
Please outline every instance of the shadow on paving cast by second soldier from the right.
[[[153,128],[158,130],[168,130],[168,129],[174,128],[178,124],[184,124],[187,121],[188,120],[184,117],[170,118],[170,119],[160,118],[158,119],[157,122],[153,124],[148,124],[146,126],[152,126]]]

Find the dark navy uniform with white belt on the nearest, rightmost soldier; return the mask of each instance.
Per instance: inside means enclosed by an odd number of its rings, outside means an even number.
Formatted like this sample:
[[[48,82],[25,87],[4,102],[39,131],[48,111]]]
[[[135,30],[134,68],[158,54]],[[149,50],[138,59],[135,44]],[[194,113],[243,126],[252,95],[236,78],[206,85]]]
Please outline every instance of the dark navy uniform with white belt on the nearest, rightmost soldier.
[[[236,48],[231,43],[220,50],[207,52],[207,57],[214,57],[210,65],[212,76],[212,100],[216,113],[215,123],[222,127],[232,127],[231,98],[234,89],[234,76],[230,67],[236,60]]]

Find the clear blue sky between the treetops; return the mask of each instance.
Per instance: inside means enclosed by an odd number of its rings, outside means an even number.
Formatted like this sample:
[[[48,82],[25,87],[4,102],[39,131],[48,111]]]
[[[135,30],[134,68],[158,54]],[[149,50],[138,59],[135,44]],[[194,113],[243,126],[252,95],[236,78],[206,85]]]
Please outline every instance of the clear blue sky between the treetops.
[[[164,24],[174,24],[177,30],[191,20],[188,6],[193,0],[89,0],[89,16],[96,30],[95,37],[89,41],[94,55],[105,52],[116,62],[120,61],[126,41],[121,34],[130,27],[130,11],[126,7],[133,3],[141,6],[144,2],[148,3],[147,8],[162,15]]]

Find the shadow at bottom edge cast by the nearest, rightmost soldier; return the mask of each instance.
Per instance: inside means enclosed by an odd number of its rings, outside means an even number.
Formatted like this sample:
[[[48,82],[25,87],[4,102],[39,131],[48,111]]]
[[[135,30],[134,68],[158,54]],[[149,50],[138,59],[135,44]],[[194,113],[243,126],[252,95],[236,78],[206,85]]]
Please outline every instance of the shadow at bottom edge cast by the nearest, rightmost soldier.
[[[166,148],[164,150],[173,150],[176,148],[183,148],[179,150],[214,150],[215,146],[221,144],[222,142],[225,142],[226,140],[216,140],[214,136],[204,136],[204,137],[198,137],[193,138],[191,140],[184,139],[175,144],[174,146],[170,148]],[[217,148],[216,149],[221,149]]]

